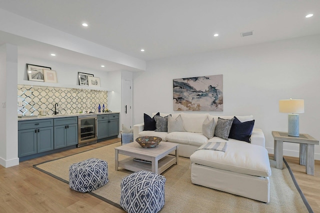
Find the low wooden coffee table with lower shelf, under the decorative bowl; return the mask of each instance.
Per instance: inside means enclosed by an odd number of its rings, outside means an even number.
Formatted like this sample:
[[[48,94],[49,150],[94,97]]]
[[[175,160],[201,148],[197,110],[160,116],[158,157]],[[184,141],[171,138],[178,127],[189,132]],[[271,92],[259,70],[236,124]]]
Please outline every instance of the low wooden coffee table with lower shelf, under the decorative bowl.
[[[114,150],[115,171],[118,170],[118,167],[121,167],[133,172],[146,170],[161,174],[170,166],[178,164],[178,144],[175,143],[162,141],[154,148],[142,148],[138,143],[132,142],[116,147]],[[175,155],[169,155],[173,151],[175,151]],[[130,158],[118,161],[118,154],[130,156]],[[134,158],[150,161],[151,163],[133,161]]]

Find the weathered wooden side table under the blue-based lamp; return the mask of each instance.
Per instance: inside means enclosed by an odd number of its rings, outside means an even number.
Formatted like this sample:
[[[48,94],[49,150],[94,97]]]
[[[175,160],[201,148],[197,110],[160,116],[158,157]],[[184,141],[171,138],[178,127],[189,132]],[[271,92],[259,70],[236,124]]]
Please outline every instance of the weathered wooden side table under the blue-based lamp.
[[[319,145],[319,141],[308,134],[300,134],[299,137],[288,136],[287,132],[272,131],[274,139],[274,160],[276,168],[282,169],[283,142],[300,144],[299,164],[305,165],[305,172],[314,175],[314,145]]]

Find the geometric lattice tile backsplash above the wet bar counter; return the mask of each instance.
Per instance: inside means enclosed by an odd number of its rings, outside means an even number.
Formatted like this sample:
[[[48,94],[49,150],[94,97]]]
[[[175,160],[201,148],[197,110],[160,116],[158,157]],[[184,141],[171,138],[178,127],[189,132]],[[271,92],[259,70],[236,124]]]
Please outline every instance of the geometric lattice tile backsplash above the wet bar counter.
[[[41,109],[45,109],[48,115],[52,115],[55,103],[59,114],[97,112],[99,104],[102,112],[103,104],[107,109],[107,97],[107,91],[101,90],[18,85],[17,101],[22,102],[22,107],[17,102],[17,113],[40,115]]]

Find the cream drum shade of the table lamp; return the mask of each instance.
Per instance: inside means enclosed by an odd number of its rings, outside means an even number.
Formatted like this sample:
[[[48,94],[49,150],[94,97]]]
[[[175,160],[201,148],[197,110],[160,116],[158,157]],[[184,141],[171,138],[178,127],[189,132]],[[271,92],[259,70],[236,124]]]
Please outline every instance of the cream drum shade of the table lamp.
[[[279,100],[279,112],[304,113],[303,99]]]

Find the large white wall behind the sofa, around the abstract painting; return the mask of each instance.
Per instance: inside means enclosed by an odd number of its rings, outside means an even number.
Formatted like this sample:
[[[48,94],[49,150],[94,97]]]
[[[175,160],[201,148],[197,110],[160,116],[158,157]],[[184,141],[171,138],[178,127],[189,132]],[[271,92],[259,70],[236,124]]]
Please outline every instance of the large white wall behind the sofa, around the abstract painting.
[[[143,113],[173,113],[172,79],[223,74],[223,112],[250,115],[273,153],[271,131],[287,131],[278,100],[304,99],[300,133],[320,139],[320,34],[147,62],[133,75],[133,123]],[[298,156],[298,145],[284,143],[284,155]],[[320,147],[315,146],[320,160]]]

